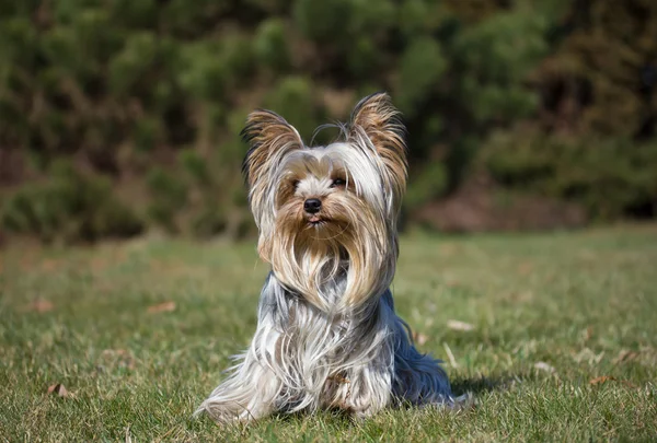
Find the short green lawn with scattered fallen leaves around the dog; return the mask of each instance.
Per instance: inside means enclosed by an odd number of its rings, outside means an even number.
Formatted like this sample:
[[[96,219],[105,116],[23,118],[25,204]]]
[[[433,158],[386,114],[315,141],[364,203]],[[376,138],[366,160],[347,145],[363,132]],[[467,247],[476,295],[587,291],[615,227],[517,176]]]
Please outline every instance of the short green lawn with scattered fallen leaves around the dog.
[[[194,420],[255,328],[267,269],[252,243],[14,246],[0,252],[0,441],[657,438],[657,226],[416,235],[401,253],[397,310],[472,409]],[[68,396],[47,393],[57,383]]]

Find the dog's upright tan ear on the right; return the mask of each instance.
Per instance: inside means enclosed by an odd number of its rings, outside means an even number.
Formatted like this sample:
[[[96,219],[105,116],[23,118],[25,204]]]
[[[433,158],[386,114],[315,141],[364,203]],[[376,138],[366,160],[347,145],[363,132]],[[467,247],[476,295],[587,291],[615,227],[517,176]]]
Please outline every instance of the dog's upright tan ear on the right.
[[[362,98],[354,108],[348,125],[348,141],[361,144],[365,137],[371,142],[385,165],[387,185],[400,198],[406,188],[405,132],[400,112],[384,92]]]

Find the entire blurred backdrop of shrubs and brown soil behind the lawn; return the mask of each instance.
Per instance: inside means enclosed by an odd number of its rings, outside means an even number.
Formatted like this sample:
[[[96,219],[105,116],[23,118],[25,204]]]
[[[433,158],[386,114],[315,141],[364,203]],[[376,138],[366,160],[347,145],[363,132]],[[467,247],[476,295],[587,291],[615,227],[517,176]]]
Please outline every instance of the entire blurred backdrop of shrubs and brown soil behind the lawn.
[[[251,235],[246,114],[379,90],[406,226],[654,219],[656,88],[655,0],[0,0],[0,237]]]

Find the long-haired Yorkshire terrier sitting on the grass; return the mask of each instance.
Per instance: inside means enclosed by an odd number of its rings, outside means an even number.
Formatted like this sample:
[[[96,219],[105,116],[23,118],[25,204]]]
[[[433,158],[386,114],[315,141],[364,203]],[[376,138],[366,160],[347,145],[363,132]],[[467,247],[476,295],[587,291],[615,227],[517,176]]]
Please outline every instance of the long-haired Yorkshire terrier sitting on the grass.
[[[243,170],[272,271],[250,348],[196,413],[365,418],[390,405],[453,405],[440,361],[415,349],[390,292],[407,174],[400,114],[378,93],[337,126],[342,141],[307,147],[278,115],[247,117]]]

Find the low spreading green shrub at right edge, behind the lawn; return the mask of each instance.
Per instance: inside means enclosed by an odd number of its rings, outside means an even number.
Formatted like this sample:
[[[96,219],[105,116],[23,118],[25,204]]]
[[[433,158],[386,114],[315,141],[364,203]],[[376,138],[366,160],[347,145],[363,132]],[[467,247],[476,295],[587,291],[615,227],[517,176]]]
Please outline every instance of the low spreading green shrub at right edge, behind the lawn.
[[[601,219],[657,209],[655,142],[585,143],[520,131],[493,137],[482,153],[487,171],[507,187],[578,201]]]

